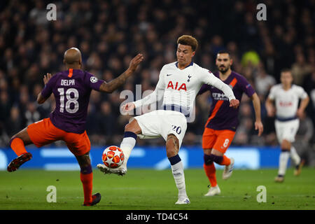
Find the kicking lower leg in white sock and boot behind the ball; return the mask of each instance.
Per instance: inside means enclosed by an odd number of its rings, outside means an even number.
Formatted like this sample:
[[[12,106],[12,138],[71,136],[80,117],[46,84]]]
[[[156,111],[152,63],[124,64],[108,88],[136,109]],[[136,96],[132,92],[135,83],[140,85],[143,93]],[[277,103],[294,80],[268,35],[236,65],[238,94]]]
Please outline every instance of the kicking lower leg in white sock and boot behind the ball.
[[[132,149],[136,145],[137,134],[141,134],[141,127],[139,126],[137,120],[134,119],[131,123],[128,123],[125,126],[124,139],[120,144],[120,148],[123,150],[125,155],[123,165],[118,168],[112,169],[106,167],[105,165],[99,164],[97,165],[97,168],[99,168],[99,170],[104,174],[118,174],[120,176],[125,175],[127,173],[127,161],[130,157]]]

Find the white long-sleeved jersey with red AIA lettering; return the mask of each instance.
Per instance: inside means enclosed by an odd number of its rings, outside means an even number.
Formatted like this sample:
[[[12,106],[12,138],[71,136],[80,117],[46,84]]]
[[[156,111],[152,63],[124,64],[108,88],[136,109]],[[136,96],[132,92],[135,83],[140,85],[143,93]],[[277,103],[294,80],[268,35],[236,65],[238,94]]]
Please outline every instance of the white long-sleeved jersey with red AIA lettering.
[[[163,99],[162,105],[181,106],[191,113],[195,97],[204,83],[222,90],[228,99],[235,99],[232,89],[208,69],[192,62],[181,70],[177,64],[178,62],[172,62],[162,67],[154,92],[134,102],[136,108]]]

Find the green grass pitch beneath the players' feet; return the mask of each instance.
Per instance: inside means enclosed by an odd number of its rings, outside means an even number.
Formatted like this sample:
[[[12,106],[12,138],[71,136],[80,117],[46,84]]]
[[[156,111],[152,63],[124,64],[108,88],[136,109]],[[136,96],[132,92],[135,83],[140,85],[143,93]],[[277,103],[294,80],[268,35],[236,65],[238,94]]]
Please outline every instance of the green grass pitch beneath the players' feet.
[[[102,200],[83,207],[80,174],[19,169],[0,172],[0,209],[106,209],[106,210],[218,210],[218,209],[315,209],[315,169],[304,168],[300,176],[287,170],[283,183],[274,183],[276,169],[238,170],[223,181],[217,171],[221,195],[204,197],[209,182],[203,169],[186,169],[186,190],[191,204],[176,205],[177,189],[171,170],[129,169],[126,176],[93,171],[93,193]],[[57,189],[57,202],[48,203],[48,186]],[[267,189],[267,202],[257,202],[257,187]]]

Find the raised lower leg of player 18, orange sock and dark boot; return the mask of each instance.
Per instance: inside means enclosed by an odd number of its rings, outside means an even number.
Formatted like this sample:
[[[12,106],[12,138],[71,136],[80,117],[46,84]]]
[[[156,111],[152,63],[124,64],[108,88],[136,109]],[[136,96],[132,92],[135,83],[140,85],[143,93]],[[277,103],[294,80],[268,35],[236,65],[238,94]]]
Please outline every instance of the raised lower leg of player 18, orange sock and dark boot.
[[[27,153],[25,149],[25,146],[29,144],[32,144],[32,142],[27,133],[27,127],[11,138],[10,147],[15,154],[18,155],[18,158],[15,158],[9,163],[7,168],[8,172],[15,172],[23,163],[31,160],[31,153]]]

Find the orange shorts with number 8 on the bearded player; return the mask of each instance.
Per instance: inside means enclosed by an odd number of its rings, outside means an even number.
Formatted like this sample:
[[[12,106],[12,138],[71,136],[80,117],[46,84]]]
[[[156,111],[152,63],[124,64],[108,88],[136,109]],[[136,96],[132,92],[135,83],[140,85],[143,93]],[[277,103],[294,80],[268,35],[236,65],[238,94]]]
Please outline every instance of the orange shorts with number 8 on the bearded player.
[[[213,130],[206,127],[202,134],[202,148],[214,148],[221,153],[229,148],[235,136],[235,132],[231,130]]]

